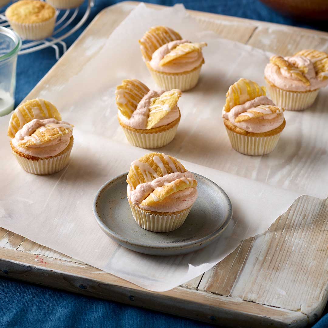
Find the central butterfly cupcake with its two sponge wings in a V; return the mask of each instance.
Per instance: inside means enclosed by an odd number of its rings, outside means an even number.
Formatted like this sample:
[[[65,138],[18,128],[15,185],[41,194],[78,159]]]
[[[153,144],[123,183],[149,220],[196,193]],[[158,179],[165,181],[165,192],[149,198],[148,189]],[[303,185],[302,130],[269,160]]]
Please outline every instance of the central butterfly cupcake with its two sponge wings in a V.
[[[136,79],[123,80],[116,88],[118,121],[136,147],[159,148],[170,143],[180,122],[177,106],[181,91],[149,90]]]

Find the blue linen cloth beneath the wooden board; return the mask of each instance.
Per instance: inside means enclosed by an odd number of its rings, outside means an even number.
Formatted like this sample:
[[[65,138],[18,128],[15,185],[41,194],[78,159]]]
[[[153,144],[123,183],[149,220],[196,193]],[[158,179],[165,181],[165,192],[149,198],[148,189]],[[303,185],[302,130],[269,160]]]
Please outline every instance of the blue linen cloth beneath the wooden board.
[[[67,46],[76,40],[95,15],[119,1],[95,0],[91,15],[78,31],[65,39]],[[258,0],[153,0],[145,1],[172,6],[183,2],[187,9],[263,20],[328,31],[325,22],[302,23],[269,9]],[[86,6],[86,4],[84,4]],[[81,10],[83,13],[83,10]],[[78,14],[80,19],[82,13]],[[22,55],[17,62],[16,106],[56,63],[54,49]],[[75,295],[47,287],[0,277],[0,328],[12,327],[210,327],[212,325],[140,309],[112,301]],[[324,311],[327,313],[327,309]],[[328,327],[325,315],[313,327]]]

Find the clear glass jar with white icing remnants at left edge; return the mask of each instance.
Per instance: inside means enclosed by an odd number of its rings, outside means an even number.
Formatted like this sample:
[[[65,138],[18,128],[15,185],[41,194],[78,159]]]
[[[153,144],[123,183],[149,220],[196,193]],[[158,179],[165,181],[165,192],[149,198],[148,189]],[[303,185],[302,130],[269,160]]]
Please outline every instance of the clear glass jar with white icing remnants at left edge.
[[[0,116],[14,109],[16,63],[21,46],[22,39],[16,32],[0,27]]]

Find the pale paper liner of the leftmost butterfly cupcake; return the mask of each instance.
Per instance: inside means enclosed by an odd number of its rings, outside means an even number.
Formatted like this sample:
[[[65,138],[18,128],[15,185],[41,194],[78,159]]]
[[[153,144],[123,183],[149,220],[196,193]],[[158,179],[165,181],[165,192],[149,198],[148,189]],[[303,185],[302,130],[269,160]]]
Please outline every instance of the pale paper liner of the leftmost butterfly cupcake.
[[[71,146],[67,147],[67,151],[64,154],[39,160],[27,159],[14,152],[12,154],[16,157],[18,163],[26,172],[46,175],[59,172],[68,164],[72,147],[73,143]]]

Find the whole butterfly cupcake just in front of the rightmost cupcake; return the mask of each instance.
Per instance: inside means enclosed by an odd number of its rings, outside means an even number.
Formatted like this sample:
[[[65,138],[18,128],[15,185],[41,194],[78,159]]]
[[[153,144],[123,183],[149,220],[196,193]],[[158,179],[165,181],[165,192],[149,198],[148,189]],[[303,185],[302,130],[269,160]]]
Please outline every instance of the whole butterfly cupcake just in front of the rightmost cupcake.
[[[285,127],[284,109],[265,88],[244,78],[230,86],[222,117],[232,148],[245,155],[265,155],[277,145]]]

